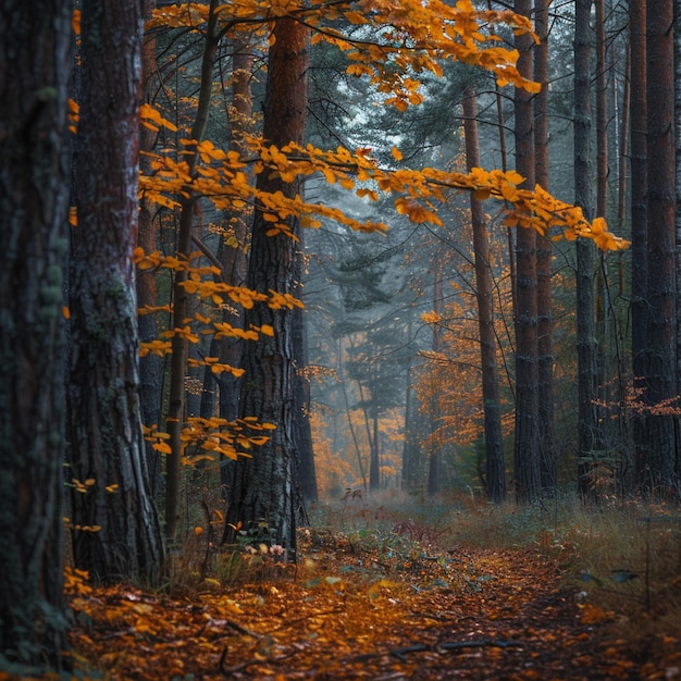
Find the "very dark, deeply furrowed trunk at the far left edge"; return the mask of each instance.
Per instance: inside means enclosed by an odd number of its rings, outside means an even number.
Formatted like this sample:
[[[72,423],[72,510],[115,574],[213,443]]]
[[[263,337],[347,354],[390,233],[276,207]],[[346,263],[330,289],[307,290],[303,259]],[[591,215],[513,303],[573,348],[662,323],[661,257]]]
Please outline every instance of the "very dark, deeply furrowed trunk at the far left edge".
[[[5,2],[0,34],[0,651],[28,678],[67,663],[62,265],[71,2]]]

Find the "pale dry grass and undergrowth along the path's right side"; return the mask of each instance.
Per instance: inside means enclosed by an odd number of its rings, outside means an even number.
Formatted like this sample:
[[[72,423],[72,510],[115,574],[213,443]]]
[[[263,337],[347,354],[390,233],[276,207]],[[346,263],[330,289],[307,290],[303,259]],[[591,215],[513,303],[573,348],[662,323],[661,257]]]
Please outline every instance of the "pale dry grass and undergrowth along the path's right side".
[[[681,641],[681,509],[641,499],[584,505],[556,496],[531,505],[469,495],[414,503],[406,496],[320,506],[314,524],[360,544],[407,536],[448,550],[533,552],[552,560],[562,589],[614,619],[617,634],[647,646]],[[635,642],[635,643],[634,643]]]

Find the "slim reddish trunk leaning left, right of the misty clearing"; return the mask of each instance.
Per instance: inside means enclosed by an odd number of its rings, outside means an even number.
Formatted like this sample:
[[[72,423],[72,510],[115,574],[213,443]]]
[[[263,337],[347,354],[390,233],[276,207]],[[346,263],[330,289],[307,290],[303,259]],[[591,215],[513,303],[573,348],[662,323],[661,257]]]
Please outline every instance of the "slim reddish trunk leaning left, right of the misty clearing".
[[[466,165],[470,171],[480,166],[478,139],[478,102],[472,87],[463,98],[463,129],[466,134]],[[480,360],[482,366],[482,400],[484,409],[486,487],[487,498],[496,504],[506,497],[504,444],[502,438],[502,408],[499,405],[499,380],[496,361],[496,334],[494,331],[494,290],[490,270],[490,242],[487,221],[482,201],[473,195],[471,222],[475,251],[475,296],[478,298],[478,323],[480,329]]]

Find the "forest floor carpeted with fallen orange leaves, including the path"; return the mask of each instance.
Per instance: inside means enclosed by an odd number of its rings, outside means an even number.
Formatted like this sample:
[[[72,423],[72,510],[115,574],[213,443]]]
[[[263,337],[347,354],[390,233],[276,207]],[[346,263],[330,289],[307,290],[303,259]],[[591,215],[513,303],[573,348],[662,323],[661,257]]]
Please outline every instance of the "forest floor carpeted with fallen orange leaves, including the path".
[[[114,679],[674,679],[670,636],[632,641],[530,550],[312,537],[297,568],[183,596],[84,587],[73,644]]]

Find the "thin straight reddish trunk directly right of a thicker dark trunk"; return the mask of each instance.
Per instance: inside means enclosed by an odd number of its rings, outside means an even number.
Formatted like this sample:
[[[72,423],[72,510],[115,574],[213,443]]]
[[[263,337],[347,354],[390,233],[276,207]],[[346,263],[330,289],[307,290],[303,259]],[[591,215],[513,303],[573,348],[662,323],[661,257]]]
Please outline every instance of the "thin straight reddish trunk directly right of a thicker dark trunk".
[[[535,182],[548,191],[548,5],[535,2],[534,79],[542,90],[534,98]],[[536,315],[538,374],[538,438],[542,490],[555,492],[558,484],[554,428],[554,321],[552,313],[553,248],[550,234],[536,237]]]

